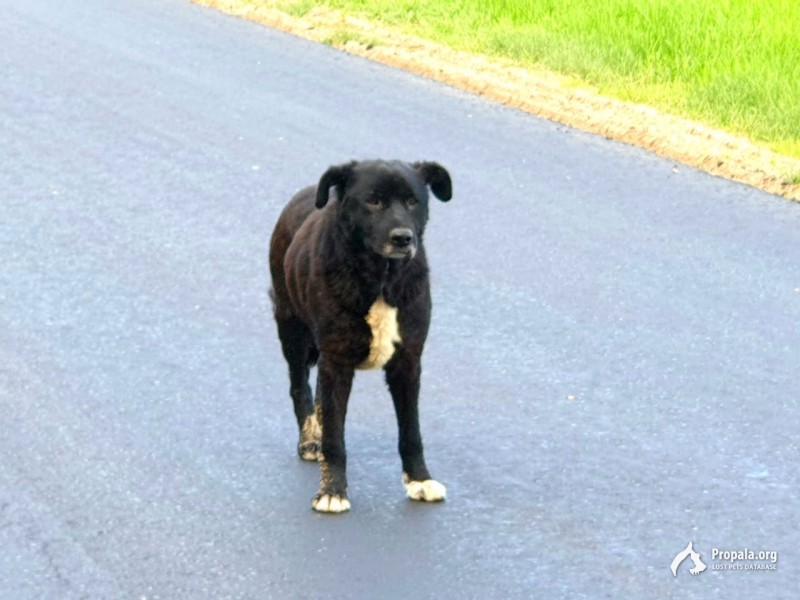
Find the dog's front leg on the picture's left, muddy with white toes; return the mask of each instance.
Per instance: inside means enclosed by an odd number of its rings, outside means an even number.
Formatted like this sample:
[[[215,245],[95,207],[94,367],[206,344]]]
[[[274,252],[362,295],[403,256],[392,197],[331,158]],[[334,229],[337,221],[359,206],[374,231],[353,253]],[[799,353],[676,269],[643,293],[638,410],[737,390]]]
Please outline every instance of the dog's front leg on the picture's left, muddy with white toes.
[[[317,402],[322,426],[321,479],[311,502],[314,510],[338,513],[350,510],[347,499],[347,453],[344,419],[353,383],[353,368],[322,357],[317,373]]]

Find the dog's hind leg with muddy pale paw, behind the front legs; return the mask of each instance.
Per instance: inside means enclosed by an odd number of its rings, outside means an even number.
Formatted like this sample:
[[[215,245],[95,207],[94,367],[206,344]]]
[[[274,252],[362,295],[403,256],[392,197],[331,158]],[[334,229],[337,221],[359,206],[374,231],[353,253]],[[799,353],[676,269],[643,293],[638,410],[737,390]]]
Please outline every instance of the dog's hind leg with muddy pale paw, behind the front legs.
[[[297,453],[303,460],[319,458],[321,432],[308,377],[318,352],[308,327],[296,317],[276,319],[278,335],[286,362],[289,365],[289,395],[300,430]]]

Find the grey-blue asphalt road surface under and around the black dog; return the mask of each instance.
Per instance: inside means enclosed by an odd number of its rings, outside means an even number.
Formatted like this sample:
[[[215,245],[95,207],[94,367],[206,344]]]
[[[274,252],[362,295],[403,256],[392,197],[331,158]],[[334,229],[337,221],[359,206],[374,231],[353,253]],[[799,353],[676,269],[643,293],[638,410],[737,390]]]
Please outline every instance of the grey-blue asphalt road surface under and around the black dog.
[[[331,517],[266,254],[370,157],[454,181],[422,390],[448,500],[404,498],[361,373]],[[799,258],[800,204],[325,46],[0,0],[0,598],[794,598]]]

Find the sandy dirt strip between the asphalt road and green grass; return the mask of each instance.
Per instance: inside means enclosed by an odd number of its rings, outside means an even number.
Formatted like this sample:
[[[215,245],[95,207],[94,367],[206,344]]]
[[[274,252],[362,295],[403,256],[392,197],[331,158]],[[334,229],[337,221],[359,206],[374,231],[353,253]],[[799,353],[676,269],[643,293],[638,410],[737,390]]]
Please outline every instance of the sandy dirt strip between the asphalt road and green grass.
[[[193,0],[318,42],[469,90],[538,117],[646,148],[713,175],[800,200],[800,160],[746,138],[601,96],[571,80],[509,61],[452,50],[414,36],[316,8],[303,18],[246,0]],[[336,40],[340,42],[336,43]],[[342,41],[343,40],[343,41]]]

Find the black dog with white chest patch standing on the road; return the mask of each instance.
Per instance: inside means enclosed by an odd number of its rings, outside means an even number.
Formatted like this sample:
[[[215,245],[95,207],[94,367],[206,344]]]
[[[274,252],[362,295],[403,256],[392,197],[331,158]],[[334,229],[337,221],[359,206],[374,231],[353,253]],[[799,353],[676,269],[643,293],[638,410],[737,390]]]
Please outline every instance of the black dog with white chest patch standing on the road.
[[[292,198],[272,234],[272,296],[300,428],[297,450],[320,461],[312,501],[320,512],[350,508],[344,420],[355,369],[386,373],[408,496],[433,502],[446,494],[425,465],[417,412],[431,315],[422,246],[427,186],[440,200],[452,196],[450,175],[436,163],[334,166]],[[317,361],[315,408],[308,376]]]

